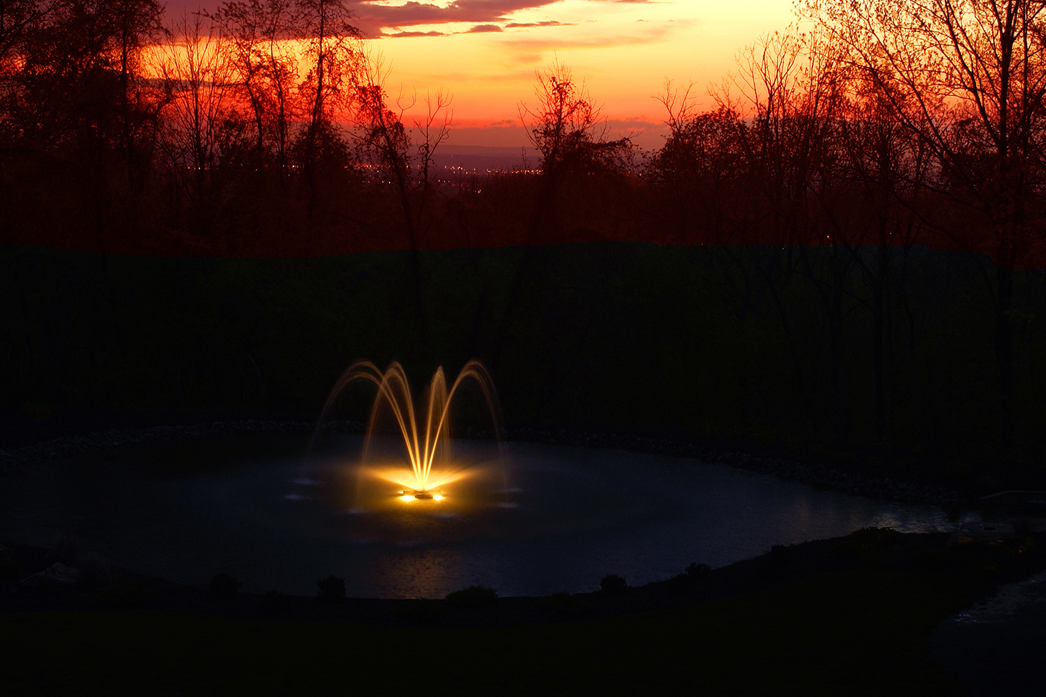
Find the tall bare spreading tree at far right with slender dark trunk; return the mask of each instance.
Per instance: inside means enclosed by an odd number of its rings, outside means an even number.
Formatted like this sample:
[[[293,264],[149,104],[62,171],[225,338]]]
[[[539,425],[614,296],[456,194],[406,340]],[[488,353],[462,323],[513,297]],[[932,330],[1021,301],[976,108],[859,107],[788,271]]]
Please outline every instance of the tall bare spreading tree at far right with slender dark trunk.
[[[1046,5],[809,0],[804,11],[881,86],[894,118],[932,149],[938,190],[973,214],[972,231],[941,229],[995,259],[991,287],[1005,440],[1016,387],[1013,270],[1042,243]]]

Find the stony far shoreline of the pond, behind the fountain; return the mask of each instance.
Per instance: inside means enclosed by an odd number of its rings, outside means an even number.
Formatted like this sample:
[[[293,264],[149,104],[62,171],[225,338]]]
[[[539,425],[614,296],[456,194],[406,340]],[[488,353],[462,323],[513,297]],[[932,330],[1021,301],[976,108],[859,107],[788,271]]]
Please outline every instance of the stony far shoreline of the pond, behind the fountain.
[[[325,433],[360,434],[359,421],[329,421]],[[111,447],[136,443],[232,434],[308,434],[316,424],[295,420],[240,419],[190,425],[155,425],[142,428],[111,428],[86,435],[63,436],[20,447],[0,449],[0,472],[58,458],[70,458]],[[487,432],[470,432],[467,438],[490,439]],[[904,504],[927,504],[947,509],[975,506],[976,497],[947,486],[906,482],[889,477],[872,477],[838,466],[803,462],[788,457],[765,457],[737,449],[703,444],[696,439],[651,437],[636,434],[567,431],[536,426],[502,428],[505,442],[547,443],[576,447],[614,448],[678,458],[693,458],[771,474],[779,479],[824,487],[845,493]]]

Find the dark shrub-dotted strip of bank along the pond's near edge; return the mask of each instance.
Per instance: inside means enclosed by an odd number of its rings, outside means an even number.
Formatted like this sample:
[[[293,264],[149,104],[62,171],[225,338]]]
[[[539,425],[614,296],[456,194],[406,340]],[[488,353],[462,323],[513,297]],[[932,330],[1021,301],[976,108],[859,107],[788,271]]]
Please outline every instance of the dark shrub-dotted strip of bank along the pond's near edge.
[[[1046,533],[1029,533],[991,545],[949,543],[949,533],[897,533],[869,528],[844,537],[775,545],[757,557],[709,568],[691,564],[668,579],[629,586],[605,578],[599,590],[545,597],[498,597],[473,586],[446,599],[346,598],[331,593],[335,577],[319,579],[315,597],[270,590],[238,593],[237,580],[220,575],[209,588],[174,583],[109,567],[73,540],[50,550],[0,544],[3,594],[0,614],[51,610],[136,610],[382,626],[476,627],[599,619],[706,603],[859,570],[932,572],[976,578],[985,589],[1040,572]],[[614,581],[617,581],[616,583]]]

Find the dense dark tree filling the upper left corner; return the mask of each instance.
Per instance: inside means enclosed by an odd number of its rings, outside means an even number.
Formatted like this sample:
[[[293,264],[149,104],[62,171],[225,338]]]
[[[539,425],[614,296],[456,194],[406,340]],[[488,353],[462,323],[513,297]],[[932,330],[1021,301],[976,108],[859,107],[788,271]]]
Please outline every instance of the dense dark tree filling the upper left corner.
[[[160,32],[159,13],[152,0],[59,0],[23,25],[13,48],[17,60],[5,62],[6,137],[26,164],[39,157],[64,162],[66,170],[39,195],[90,210],[71,220],[82,229],[93,219],[96,247],[114,229],[133,235],[145,210],[139,200],[163,93],[145,77],[140,59]]]

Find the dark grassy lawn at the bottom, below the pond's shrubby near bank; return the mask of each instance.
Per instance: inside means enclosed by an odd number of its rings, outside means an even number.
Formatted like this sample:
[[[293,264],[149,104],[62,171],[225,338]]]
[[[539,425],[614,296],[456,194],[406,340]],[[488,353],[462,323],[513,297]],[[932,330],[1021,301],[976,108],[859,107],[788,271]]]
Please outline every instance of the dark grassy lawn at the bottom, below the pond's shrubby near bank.
[[[926,635],[985,591],[851,572],[670,611],[485,629],[0,618],[5,694],[954,695]]]

